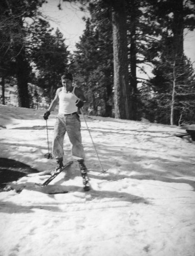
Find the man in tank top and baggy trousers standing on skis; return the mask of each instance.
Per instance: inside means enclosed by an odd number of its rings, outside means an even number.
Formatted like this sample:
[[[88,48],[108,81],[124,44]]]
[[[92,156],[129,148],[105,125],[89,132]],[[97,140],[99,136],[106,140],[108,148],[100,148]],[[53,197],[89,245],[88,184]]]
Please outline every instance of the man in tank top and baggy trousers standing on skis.
[[[72,156],[79,163],[84,189],[89,190],[90,185],[87,169],[84,164],[84,150],[80,133],[81,124],[77,113],[78,108],[82,108],[86,99],[82,90],[73,86],[73,76],[71,73],[62,75],[61,82],[62,87],[57,89],[48,111],[44,114],[44,119],[47,120],[50,112],[53,111],[59,103],[53,138],[53,156],[57,161],[55,172],[59,172],[63,167],[63,140],[67,132],[71,142]]]

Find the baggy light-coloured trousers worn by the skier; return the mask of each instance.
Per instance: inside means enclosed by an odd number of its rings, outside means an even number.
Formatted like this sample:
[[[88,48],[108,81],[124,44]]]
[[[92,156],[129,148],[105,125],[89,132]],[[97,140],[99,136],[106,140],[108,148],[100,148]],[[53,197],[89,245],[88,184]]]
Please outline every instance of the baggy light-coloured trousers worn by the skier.
[[[71,142],[71,153],[74,159],[84,159],[84,150],[80,133],[80,118],[78,114],[64,116],[58,114],[54,125],[53,156],[61,158],[64,155],[64,135],[68,134]]]

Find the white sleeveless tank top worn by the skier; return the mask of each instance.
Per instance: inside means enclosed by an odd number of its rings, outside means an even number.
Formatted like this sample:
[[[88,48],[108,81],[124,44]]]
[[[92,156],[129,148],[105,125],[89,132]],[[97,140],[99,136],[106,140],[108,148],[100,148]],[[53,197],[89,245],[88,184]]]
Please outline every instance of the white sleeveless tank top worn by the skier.
[[[59,92],[59,114],[66,115],[77,112],[78,108],[75,102],[78,98],[75,96],[74,91],[75,87],[71,93],[66,93],[64,88],[61,90],[61,92]]]

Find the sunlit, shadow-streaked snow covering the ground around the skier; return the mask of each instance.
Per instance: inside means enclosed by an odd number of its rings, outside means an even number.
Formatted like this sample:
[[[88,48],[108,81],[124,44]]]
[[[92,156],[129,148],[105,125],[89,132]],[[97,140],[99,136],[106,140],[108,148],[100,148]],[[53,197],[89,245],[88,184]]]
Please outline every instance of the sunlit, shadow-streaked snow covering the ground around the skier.
[[[1,256],[194,256],[195,144],[177,126],[81,117],[92,190],[76,161],[48,186],[44,110],[0,105],[1,157],[38,169],[0,193]],[[56,112],[48,119],[50,141]],[[66,159],[72,160],[65,136]],[[66,193],[68,191],[68,193]],[[57,194],[53,194],[57,193]]]

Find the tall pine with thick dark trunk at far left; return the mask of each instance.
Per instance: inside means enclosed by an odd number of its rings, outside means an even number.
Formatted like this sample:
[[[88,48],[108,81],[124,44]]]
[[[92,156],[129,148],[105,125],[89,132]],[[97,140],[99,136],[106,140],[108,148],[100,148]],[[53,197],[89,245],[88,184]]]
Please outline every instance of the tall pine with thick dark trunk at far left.
[[[28,81],[31,68],[27,54],[28,26],[25,26],[25,18],[36,16],[38,7],[44,2],[44,0],[2,0],[0,4],[0,23],[4,25],[3,28],[7,34],[4,47],[15,62],[19,106],[26,108],[30,107]]]

